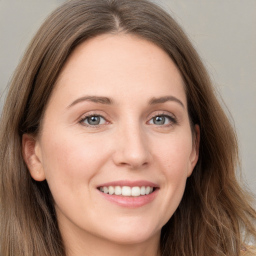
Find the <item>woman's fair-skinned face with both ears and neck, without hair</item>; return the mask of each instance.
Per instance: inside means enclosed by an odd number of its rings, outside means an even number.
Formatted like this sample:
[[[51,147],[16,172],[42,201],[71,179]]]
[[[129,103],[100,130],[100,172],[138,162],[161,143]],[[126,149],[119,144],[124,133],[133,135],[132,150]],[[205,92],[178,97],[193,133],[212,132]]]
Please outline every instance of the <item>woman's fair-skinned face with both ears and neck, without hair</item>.
[[[22,139],[31,176],[53,195],[68,256],[159,255],[198,143],[178,69],[161,48],[127,34],[79,44],[40,134]],[[116,195],[118,187],[140,195]]]

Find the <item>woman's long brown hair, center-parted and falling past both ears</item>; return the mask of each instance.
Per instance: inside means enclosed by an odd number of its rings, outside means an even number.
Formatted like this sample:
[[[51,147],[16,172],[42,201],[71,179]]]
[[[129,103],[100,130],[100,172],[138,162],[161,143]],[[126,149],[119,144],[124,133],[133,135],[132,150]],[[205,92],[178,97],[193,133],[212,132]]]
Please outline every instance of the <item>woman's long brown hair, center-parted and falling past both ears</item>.
[[[58,74],[86,38],[124,32],[154,42],[183,77],[190,121],[200,126],[199,160],[161,232],[163,256],[239,255],[255,241],[256,212],[236,179],[237,142],[198,54],[180,26],[146,0],[70,0],[42,24],[10,83],[0,122],[0,254],[65,255],[46,180],[22,158],[23,133],[36,135]]]

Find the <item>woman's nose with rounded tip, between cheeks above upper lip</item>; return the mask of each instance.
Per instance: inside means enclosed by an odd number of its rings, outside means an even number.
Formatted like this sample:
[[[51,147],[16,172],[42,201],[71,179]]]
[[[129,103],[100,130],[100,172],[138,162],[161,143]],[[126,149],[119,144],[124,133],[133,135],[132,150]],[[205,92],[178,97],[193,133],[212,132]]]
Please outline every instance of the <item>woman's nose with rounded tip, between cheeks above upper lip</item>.
[[[145,132],[137,126],[121,128],[115,136],[113,161],[118,166],[139,169],[149,164],[151,154]]]

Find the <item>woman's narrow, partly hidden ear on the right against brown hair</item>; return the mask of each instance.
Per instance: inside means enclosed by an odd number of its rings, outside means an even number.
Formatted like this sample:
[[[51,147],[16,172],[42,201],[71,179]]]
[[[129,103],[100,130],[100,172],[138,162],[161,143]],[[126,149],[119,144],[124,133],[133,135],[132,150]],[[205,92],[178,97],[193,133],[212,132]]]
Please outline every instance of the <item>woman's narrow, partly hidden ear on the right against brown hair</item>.
[[[187,171],[187,177],[191,175],[199,156],[200,127],[198,124],[194,125],[194,134],[192,136],[193,136],[193,147],[192,147],[191,154],[189,156],[189,166]]]

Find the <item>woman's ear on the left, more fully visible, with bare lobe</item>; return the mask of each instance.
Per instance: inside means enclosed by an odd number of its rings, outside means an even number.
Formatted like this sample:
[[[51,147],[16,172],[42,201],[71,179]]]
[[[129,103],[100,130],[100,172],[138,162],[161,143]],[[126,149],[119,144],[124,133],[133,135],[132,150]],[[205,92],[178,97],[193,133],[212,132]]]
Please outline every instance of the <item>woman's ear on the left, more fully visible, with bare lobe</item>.
[[[31,177],[36,181],[45,179],[39,145],[33,136],[22,135],[22,154]]]

